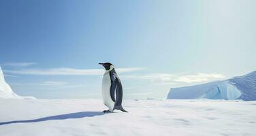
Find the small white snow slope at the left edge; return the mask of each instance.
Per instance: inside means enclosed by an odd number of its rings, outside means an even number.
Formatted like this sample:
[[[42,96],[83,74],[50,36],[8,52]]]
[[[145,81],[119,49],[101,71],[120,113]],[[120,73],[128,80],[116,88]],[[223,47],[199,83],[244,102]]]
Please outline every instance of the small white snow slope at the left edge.
[[[12,88],[5,82],[5,78],[3,76],[3,71],[0,67],[0,98],[21,98],[16,95]]]

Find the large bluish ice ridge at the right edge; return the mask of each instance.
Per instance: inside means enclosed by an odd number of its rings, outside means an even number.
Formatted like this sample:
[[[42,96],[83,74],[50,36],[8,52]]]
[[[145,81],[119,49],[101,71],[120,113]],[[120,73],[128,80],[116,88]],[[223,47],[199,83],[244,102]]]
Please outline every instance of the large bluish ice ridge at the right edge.
[[[256,100],[256,71],[229,80],[171,88],[167,99]]]

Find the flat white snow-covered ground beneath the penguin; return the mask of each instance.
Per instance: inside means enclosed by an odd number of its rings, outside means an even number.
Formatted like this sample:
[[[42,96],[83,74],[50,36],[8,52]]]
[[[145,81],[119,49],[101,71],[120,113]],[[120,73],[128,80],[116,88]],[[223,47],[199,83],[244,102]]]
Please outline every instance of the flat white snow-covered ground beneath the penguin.
[[[0,99],[1,136],[256,135],[256,101],[124,101],[129,113],[100,99]]]

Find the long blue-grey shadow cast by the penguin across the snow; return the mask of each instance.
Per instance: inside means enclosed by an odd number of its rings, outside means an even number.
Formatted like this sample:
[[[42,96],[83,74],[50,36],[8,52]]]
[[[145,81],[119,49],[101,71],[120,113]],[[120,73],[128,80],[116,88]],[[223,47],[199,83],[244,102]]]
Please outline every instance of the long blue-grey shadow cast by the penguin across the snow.
[[[3,124],[14,124],[14,123],[31,123],[31,122],[42,122],[47,120],[67,120],[67,119],[76,119],[76,118],[85,118],[85,117],[93,117],[93,116],[101,116],[106,113],[103,112],[76,112],[71,114],[61,114],[56,116],[47,116],[44,118],[37,118],[33,120],[14,120],[9,122],[0,122],[0,125]]]

